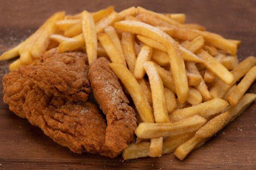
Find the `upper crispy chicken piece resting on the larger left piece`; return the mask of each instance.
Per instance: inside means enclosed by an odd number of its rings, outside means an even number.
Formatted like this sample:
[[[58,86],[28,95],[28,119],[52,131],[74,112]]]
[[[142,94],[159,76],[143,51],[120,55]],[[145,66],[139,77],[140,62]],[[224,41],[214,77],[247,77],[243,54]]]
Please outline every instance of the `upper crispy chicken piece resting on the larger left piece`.
[[[87,79],[87,58],[81,52],[50,53],[42,56],[42,63],[23,66],[23,78],[31,80],[47,94],[69,101],[87,101],[90,84]]]

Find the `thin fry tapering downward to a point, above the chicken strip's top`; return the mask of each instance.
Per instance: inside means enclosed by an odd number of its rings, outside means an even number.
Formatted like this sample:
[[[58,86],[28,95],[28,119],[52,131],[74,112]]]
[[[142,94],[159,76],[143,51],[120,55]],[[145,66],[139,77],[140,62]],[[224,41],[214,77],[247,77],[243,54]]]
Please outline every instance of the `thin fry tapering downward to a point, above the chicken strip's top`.
[[[116,50],[120,53],[123,61],[125,62],[125,56],[124,56],[124,53],[123,53],[123,50],[122,50],[121,42],[120,42],[119,37],[116,33],[116,30],[113,28],[113,26],[107,26],[105,28],[105,33],[111,39],[112,43],[116,47]]]

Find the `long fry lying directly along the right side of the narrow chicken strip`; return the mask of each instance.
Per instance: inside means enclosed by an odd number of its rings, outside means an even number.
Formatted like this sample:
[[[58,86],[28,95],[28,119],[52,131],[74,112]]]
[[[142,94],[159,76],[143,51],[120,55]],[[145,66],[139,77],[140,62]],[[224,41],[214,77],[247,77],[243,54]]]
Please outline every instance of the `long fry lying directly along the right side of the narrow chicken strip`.
[[[128,89],[143,122],[154,122],[151,107],[132,73],[122,64],[110,63],[110,68]]]

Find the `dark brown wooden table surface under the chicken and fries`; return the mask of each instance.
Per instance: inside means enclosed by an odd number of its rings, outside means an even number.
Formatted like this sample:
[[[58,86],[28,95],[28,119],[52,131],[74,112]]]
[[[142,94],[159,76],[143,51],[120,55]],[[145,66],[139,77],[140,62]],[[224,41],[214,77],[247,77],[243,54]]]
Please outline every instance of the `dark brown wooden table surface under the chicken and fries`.
[[[53,12],[74,14],[115,5],[116,11],[143,6],[156,12],[185,13],[189,23],[200,23],[209,31],[242,40],[238,55],[256,55],[256,1],[249,0],[0,0],[0,52],[24,40]],[[10,61],[0,62],[0,77]],[[123,161],[97,154],[72,153],[53,142],[26,119],[10,112],[3,103],[0,84],[0,169],[256,169],[256,104],[233,123],[193,151],[184,161],[173,154],[160,158]],[[256,84],[249,89],[256,93]]]

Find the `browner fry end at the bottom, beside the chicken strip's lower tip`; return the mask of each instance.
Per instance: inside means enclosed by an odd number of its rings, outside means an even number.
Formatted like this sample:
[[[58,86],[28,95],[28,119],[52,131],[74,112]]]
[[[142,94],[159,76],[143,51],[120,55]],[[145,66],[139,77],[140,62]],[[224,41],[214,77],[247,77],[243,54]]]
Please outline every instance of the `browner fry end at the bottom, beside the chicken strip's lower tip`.
[[[150,142],[140,142],[137,144],[129,144],[122,152],[124,160],[147,157]]]

